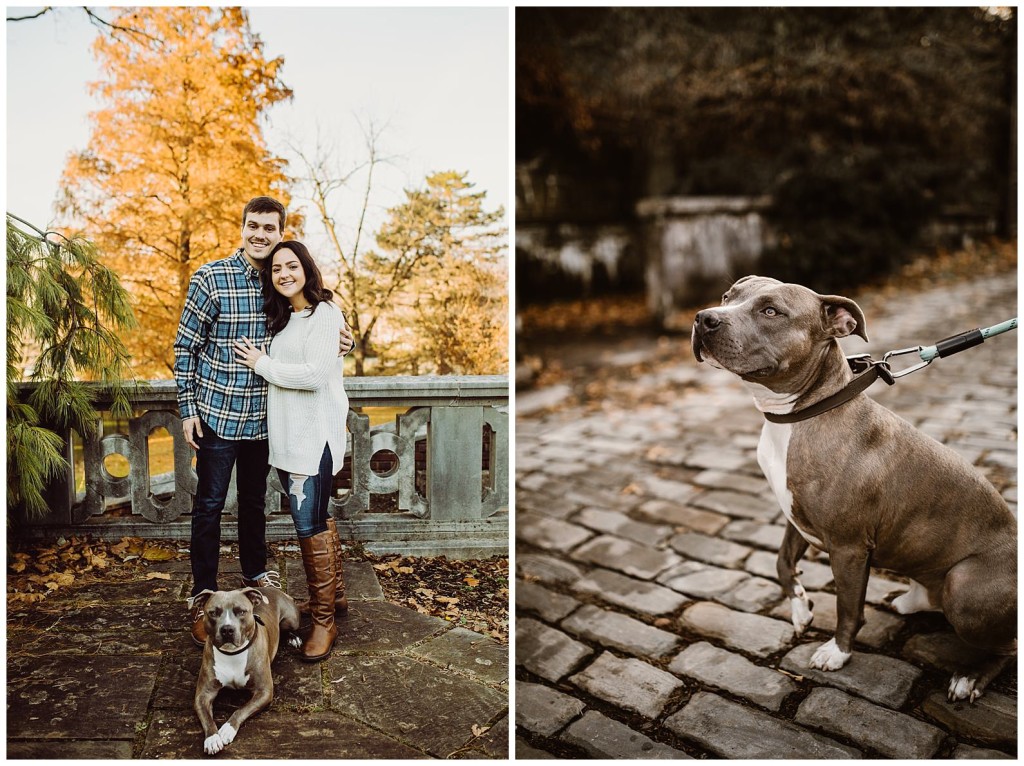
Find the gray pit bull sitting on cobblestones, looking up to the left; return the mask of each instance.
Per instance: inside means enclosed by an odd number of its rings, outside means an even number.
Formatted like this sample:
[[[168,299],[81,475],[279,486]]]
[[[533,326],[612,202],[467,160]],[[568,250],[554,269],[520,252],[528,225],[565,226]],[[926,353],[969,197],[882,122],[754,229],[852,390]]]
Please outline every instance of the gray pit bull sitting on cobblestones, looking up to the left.
[[[799,415],[853,379],[838,343],[848,335],[867,340],[849,298],[744,276],[721,306],[697,313],[691,342],[698,361],[739,376],[762,413]],[[797,635],[813,616],[797,563],[808,545],[831,563],[836,635],[810,667],[834,671],[849,661],[868,568],[880,566],[911,579],[892,602],[896,611],[941,610],[984,650],[949,684],[950,700],[973,703],[1017,652],[1017,520],[995,488],[862,393],[807,420],[766,420],[758,463],[788,522],[777,569]]]

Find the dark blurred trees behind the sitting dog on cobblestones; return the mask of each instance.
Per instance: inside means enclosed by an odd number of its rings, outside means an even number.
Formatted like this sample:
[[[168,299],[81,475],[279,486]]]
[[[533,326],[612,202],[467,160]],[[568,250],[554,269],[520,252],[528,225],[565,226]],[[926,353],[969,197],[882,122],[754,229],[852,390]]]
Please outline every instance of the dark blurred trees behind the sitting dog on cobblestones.
[[[517,223],[768,195],[761,270],[823,291],[937,220],[1013,236],[1016,39],[1015,8],[517,8],[518,177],[559,179]]]

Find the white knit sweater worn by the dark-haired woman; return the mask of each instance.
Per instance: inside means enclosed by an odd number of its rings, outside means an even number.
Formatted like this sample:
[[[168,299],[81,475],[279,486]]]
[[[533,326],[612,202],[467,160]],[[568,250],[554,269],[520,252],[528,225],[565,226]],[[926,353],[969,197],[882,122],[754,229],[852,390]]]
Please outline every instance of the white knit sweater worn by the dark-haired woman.
[[[327,301],[312,313],[293,312],[270,343],[269,355],[256,363],[256,373],[270,384],[267,426],[274,468],[312,476],[324,444],[331,446],[334,473],[345,462],[348,395],[344,359],[338,355],[342,322],[341,309]]]

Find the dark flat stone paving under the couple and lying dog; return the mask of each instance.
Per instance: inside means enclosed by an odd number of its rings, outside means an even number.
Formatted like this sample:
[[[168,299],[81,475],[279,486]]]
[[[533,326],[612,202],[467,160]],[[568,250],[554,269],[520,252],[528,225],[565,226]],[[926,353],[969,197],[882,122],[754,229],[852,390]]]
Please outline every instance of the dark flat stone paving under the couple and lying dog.
[[[286,590],[305,598],[302,562],[280,555]],[[193,712],[202,650],[170,580],[98,584],[7,613],[7,758],[199,759]],[[241,572],[221,560],[220,586]],[[282,646],[274,700],[220,759],[506,759],[508,647],[384,600],[373,566],[346,566],[350,607],[332,654],[304,663]],[[248,699],[223,690],[218,723]]]

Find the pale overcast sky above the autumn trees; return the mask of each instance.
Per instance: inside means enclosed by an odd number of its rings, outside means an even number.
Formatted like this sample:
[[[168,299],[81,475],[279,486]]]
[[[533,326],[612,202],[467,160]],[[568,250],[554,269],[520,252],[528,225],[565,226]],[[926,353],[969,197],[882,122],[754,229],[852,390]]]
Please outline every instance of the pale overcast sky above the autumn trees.
[[[267,112],[271,152],[291,159],[289,143],[312,151],[318,131],[350,166],[364,157],[360,122],[386,125],[379,148],[392,164],[375,184],[378,219],[403,187],[450,169],[469,172],[488,210],[509,213],[507,8],[249,7],[249,16],[267,57],[285,57],[282,79],[295,93]],[[53,220],[68,155],[85,148],[88,115],[101,105],[87,88],[101,77],[91,53],[97,34],[75,7],[7,23],[6,209],[37,225]],[[357,210],[353,195],[341,218]]]

